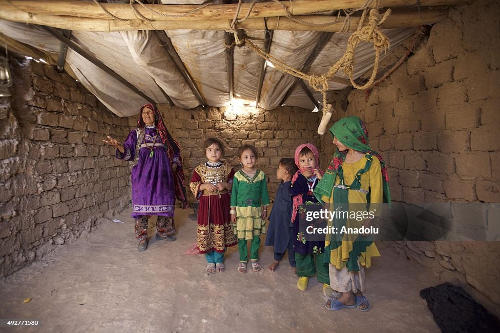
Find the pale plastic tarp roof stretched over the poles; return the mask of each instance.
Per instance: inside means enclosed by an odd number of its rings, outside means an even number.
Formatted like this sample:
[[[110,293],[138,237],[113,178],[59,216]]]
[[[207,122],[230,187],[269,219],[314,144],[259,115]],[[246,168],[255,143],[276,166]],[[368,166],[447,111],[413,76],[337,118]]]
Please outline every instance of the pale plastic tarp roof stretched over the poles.
[[[202,4],[204,2],[207,1],[161,1],[163,4]],[[33,25],[0,20],[0,31],[10,38],[44,51],[54,54],[59,52],[60,42]],[[384,30],[389,37],[391,48],[411,36],[414,31],[415,28]],[[170,38],[175,51],[206,104],[209,106],[228,105],[230,97],[224,31],[165,30],[164,32]],[[247,30],[245,33],[258,47],[264,48],[263,30]],[[343,55],[350,34],[350,32],[333,33],[313,61],[308,73],[327,72],[329,66]],[[317,31],[274,30],[269,53],[296,69],[302,69],[321,35],[322,33]],[[164,95],[167,94],[175,105],[182,108],[193,108],[201,104],[164,47],[165,42],[158,37],[156,31],[72,31],[71,39],[156,103],[167,103]],[[359,44],[355,53],[355,78],[371,68],[373,60],[372,45]],[[263,59],[248,46],[233,47],[233,98],[237,102],[241,104],[255,102],[262,62]],[[119,116],[134,115],[140,105],[147,102],[123,83],[71,49],[67,51],[66,63],[71,67],[76,79]],[[343,73],[337,73],[337,75],[345,77]],[[291,75],[266,66],[258,106],[265,109],[279,106],[294,81]],[[329,90],[345,87],[343,84],[330,82]],[[310,88],[309,90],[313,92],[317,101],[321,101],[320,93]],[[284,103],[305,109],[314,108],[313,103],[298,85]]]

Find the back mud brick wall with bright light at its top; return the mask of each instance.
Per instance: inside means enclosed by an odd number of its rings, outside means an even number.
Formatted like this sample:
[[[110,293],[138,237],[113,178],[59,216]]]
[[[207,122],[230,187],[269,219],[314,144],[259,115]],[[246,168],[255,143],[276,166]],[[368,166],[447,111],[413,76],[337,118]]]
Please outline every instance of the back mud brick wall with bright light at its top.
[[[310,142],[319,149],[316,132],[320,114],[298,107],[264,110],[250,106],[206,107],[185,110],[160,104],[159,110],[173,138],[181,146],[188,200],[195,202],[188,182],[193,169],[206,161],[203,142],[215,137],[225,146],[225,156],[234,171],[240,169],[236,151],[243,144],[254,145],[260,157],[257,167],[268,178],[271,202],[279,185],[276,178],[278,161],[291,157],[295,148]],[[137,117],[129,117],[129,129],[137,126]],[[123,137],[120,138],[124,139]]]

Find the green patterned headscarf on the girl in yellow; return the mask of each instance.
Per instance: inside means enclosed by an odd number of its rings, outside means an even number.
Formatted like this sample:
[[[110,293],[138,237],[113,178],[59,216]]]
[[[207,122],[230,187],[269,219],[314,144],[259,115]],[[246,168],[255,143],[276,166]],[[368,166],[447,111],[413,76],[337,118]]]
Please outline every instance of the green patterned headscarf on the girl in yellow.
[[[340,143],[350,149],[362,151],[363,153],[370,153],[378,158],[380,161],[380,169],[382,171],[382,189],[383,199],[382,202],[388,203],[390,206],[390,193],[389,193],[389,177],[387,175],[387,167],[383,162],[382,156],[370,148],[368,145],[368,131],[364,126],[361,119],[355,116],[345,117],[337,120],[333,126],[330,127],[329,132],[333,137],[336,137]],[[314,188],[314,196],[319,202],[323,202],[323,196],[329,197],[335,185],[335,178],[340,165],[345,160],[347,151],[339,151],[336,148],[330,165],[326,169],[323,178]]]

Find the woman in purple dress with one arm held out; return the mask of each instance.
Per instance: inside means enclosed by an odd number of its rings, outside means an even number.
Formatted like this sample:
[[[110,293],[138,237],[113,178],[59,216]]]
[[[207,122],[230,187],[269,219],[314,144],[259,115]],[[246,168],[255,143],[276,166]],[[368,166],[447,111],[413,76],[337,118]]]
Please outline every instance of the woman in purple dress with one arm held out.
[[[179,145],[166,129],[158,109],[152,104],[140,108],[137,128],[123,144],[107,137],[116,147],[116,158],[133,161],[132,217],[138,251],[147,249],[147,220],[156,215],[156,239],[174,241],[173,211],[175,197],[186,203],[184,172]]]

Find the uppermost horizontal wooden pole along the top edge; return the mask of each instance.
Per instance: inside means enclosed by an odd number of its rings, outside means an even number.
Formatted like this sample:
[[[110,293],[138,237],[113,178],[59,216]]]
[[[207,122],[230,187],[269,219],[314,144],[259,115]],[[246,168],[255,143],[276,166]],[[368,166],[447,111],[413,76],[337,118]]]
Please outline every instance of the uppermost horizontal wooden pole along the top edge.
[[[408,7],[416,6],[441,6],[455,5],[470,2],[470,0],[383,0],[383,7]],[[366,0],[294,0],[281,1],[281,3],[294,14],[307,14],[317,11],[338,10],[347,8],[360,8],[366,4]],[[100,3],[109,13],[122,19],[136,20],[136,13],[130,8],[128,3]],[[212,19],[232,19],[236,12],[237,4],[213,4],[205,7],[192,4],[145,4],[144,8],[140,4],[134,4],[134,9],[141,15],[155,20],[176,20],[176,21],[199,21]],[[182,15],[195,10],[189,15],[180,17],[168,17],[154,13],[148,8],[166,15]],[[242,3],[238,18],[246,15],[250,8],[250,3]],[[62,16],[77,16],[90,18],[111,18],[99,5],[92,1],[74,0],[0,0],[0,11],[20,10],[31,14],[47,14]],[[197,10],[196,10],[197,9]],[[285,16],[285,11],[276,2],[255,3],[248,18]]]

